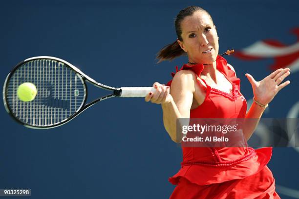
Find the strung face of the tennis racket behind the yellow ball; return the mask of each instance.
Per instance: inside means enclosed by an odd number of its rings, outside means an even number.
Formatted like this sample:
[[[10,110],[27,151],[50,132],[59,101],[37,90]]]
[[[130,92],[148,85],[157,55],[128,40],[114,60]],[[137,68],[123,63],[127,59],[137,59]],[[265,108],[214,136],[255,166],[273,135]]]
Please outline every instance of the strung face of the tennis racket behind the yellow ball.
[[[31,82],[37,88],[36,98],[21,101],[19,85]],[[6,99],[11,112],[21,122],[32,126],[52,126],[80,109],[85,101],[82,78],[63,62],[41,59],[21,65],[8,80]]]

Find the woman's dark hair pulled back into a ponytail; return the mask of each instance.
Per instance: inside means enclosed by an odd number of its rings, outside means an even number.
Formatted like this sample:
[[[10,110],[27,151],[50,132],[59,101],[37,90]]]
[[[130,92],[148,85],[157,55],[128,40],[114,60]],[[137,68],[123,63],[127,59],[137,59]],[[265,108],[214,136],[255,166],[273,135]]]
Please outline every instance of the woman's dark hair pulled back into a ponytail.
[[[175,17],[175,20],[174,20],[174,27],[175,27],[175,32],[176,32],[176,36],[177,36],[178,40],[183,41],[183,38],[181,36],[182,35],[181,22],[185,19],[185,17],[192,16],[194,14],[194,12],[196,12],[196,11],[205,12],[206,14],[209,15],[209,17],[212,20],[211,15],[205,9],[203,9],[201,7],[189,6],[187,8],[184,8],[177,14],[177,16]],[[213,20],[212,20],[212,22],[213,22]],[[164,60],[173,60],[174,58],[179,57],[184,54],[186,54],[185,51],[183,51],[183,49],[178,44],[177,40],[175,40],[173,43],[164,46],[157,53],[158,63],[160,63],[161,61],[164,61]]]

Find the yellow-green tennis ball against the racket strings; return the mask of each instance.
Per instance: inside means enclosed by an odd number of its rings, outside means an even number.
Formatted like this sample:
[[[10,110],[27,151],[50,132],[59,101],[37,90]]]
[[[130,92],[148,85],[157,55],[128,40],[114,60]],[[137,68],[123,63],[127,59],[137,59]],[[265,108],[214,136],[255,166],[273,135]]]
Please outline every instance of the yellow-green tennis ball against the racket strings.
[[[17,90],[17,95],[21,101],[32,101],[36,96],[37,90],[33,83],[22,83]]]

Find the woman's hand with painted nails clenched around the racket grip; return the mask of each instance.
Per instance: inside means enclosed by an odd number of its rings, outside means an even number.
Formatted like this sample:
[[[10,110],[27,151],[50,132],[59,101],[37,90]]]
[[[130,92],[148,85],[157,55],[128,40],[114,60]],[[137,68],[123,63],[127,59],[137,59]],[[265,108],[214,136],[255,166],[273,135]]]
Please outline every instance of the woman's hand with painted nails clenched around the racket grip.
[[[154,82],[152,87],[154,87],[156,90],[154,93],[149,93],[145,97],[146,102],[152,102],[156,104],[164,104],[169,103],[172,100],[171,94],[170,94],[170,87],[166,86],[165,84],[160,84],[159,82]]]

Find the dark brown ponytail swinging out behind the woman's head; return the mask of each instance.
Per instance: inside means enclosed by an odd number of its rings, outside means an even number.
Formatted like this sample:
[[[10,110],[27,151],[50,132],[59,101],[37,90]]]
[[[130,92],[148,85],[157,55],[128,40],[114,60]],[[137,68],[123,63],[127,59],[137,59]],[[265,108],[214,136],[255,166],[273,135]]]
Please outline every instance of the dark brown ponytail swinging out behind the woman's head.
[[[178,44],[177,40],[173,43],[164,46],[158,53],[156,59],[158,59],[158,63],[165,60],[173,60],[181,55],[186,54],[185,51]]]

